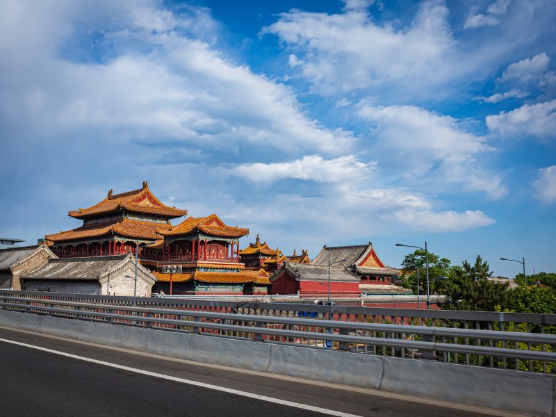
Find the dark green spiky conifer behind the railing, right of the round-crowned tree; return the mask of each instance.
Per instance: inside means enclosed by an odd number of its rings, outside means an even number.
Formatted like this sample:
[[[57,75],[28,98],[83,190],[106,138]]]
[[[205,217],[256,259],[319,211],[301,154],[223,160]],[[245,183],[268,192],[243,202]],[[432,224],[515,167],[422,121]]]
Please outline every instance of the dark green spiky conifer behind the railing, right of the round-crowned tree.
[[[489,263],[480,255],[471,264],[464,261],[450,271],[445,283],[446,300],[441,304],[448,310],[495,311],[496,306],[508,305],[507,283],[489,281],[492,272]]]

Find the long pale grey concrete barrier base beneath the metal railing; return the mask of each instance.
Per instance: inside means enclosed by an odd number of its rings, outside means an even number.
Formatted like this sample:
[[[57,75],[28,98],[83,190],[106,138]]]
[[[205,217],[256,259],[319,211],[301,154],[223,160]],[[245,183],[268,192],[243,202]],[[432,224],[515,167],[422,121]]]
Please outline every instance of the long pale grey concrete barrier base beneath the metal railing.
[[[556,377],[0,310],[0,326],[204,363],[555,417]]]

